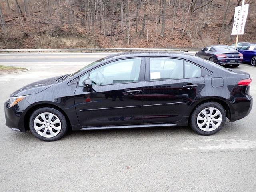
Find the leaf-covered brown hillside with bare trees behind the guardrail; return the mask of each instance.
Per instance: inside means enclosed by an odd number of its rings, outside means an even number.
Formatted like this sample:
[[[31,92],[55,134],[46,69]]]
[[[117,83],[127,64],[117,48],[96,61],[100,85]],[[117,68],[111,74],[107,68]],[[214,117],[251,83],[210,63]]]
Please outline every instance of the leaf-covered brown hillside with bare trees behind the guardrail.
[[[239,41],[256,42],[256,0],[246,3],[249,14]],[[0,48],[232,44],[234,8],[241,4],[242,0],[0,0]]]

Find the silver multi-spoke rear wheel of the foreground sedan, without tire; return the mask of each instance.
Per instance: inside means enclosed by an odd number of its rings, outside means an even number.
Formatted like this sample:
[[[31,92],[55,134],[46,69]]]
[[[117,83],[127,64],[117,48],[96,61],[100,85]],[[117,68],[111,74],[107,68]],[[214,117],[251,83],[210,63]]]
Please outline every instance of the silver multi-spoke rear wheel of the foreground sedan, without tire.
[[[222,122],[220,110],[214,107],[203,109],[196,118],[198,127],[206,132],[216,130]]]

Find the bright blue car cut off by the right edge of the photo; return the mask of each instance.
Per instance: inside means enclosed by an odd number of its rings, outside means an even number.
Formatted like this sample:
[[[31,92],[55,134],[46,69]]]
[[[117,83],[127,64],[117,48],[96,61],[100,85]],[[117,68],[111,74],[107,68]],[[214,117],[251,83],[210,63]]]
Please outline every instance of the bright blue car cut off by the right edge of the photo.
[[[252,66],[256,66],[256,44],[242,46],[238,51],[243,54],[244,62],[250,62]]]

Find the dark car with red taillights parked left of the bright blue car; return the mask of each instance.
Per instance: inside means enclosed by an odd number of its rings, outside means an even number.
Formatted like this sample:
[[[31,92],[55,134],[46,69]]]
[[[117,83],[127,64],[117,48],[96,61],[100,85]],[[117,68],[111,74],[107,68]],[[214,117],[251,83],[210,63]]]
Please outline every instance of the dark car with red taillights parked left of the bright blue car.
[[[196,56],[217,63],[219,65],[232,65],[238,67],[243,62],[243,54],[227,45],[211,45],[198,51]]]

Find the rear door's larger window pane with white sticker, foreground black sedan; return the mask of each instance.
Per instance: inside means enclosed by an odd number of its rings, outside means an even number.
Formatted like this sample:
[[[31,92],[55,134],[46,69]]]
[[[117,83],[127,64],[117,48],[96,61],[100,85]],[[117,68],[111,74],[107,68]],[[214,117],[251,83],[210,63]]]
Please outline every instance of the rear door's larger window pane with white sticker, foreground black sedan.
[[[150,58],[150,80],[183,78],[183,60]]]

